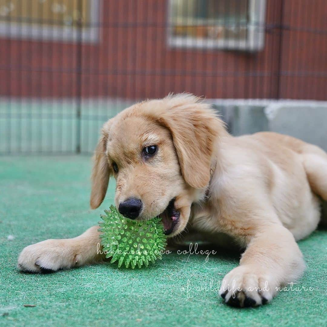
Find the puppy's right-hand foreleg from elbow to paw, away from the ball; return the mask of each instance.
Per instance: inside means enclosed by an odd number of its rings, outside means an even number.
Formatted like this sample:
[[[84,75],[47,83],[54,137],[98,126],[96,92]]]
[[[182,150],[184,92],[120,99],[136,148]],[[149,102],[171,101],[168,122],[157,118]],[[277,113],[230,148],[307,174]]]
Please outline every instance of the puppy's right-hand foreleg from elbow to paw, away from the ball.
[[[269,223],[250,238],[240,266],[224,277],[219,294],[234,306],[264,304],[280,287],[295,282],[304,268],[291,232],[279,223]]]

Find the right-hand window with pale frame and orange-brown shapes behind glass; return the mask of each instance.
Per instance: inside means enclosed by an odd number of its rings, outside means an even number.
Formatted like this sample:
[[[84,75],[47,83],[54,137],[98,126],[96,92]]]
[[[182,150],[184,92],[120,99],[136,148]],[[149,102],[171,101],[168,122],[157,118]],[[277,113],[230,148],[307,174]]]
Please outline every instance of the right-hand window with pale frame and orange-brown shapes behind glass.
[[[266,0],[170,0],[168,44],[260,50],[265,14]]]

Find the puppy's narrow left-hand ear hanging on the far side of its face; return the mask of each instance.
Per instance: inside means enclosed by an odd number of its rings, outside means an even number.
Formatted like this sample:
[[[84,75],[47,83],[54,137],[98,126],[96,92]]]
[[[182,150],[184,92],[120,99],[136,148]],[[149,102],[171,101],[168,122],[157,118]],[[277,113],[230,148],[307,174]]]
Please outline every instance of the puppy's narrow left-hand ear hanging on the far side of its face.
[[[94,165],[92,171],[92,190],[90,205],[92,209],[97,208],[103,201],[107,193],[109,178],[112,175],[112,169],[109,167],[106,156],[108,131],[112,120],[106,122],[101,130],[101,137],[94,153]]]

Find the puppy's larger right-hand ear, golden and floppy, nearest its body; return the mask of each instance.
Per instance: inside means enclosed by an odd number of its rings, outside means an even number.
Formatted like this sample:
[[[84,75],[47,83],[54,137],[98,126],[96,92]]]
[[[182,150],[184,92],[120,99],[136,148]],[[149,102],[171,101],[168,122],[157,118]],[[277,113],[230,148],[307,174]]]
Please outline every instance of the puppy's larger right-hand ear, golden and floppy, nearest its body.
[[[227,133],[224,123],[194,95],[169,95],[162,101],[156,119],[172,134],[184,180],[194,188],[205,188],[217,139]]]

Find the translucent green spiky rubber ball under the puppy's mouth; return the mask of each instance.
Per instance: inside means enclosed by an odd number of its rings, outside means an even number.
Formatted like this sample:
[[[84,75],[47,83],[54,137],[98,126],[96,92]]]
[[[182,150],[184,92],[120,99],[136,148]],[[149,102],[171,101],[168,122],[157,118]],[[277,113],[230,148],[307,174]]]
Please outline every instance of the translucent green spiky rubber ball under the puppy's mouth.
[[[102,232],[103,251],[106,258],[112,257],[111,263],[118,261],[118,267],[125,264],[134,269],[162,258],[161,251],[167,243],[159,218],[131,220],[121,215],[113,205],[110,210],[105,210],[105,214],[100,215],[103,221],[99,222],[99,232]]]

